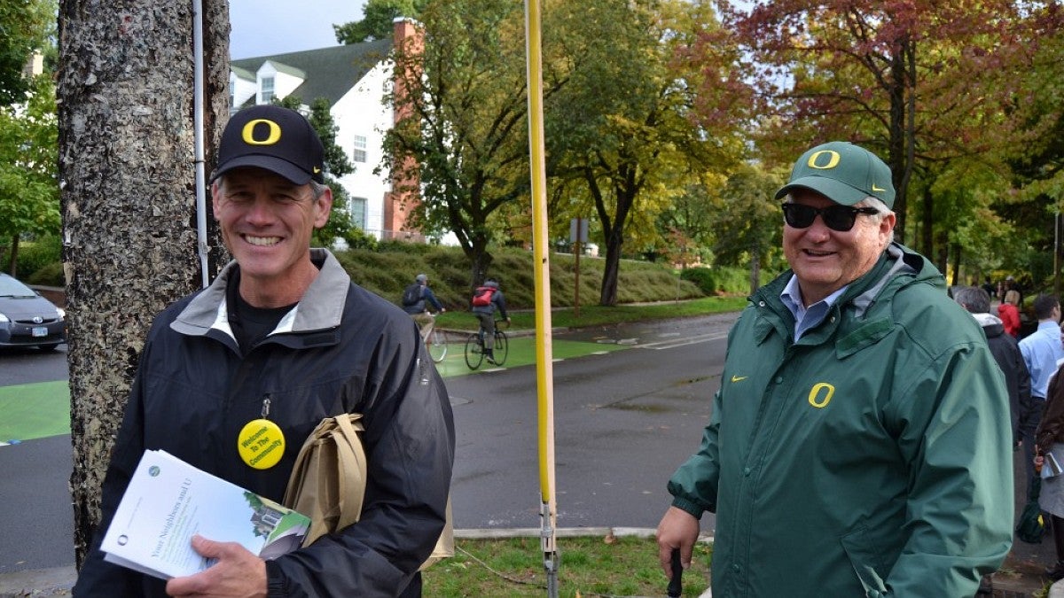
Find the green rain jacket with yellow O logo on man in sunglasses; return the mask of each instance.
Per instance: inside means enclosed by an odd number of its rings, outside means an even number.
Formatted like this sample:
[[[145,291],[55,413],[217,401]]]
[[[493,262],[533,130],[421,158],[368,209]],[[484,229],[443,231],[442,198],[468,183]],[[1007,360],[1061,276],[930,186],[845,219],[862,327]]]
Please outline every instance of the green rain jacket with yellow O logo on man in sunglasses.
[[[1012,544],[1009,395],[976,320],[899,245],[795,343],[750,298],[672,504],[716,513],[715,598],[967,598]]]

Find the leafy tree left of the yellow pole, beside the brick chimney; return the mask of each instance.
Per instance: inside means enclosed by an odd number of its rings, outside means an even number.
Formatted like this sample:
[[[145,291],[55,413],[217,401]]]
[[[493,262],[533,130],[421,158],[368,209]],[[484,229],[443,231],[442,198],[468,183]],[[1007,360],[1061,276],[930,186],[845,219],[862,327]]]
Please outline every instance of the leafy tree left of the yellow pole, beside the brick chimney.
[[[523,13],[505,0],[439,0],[421,22],[423,49],[394,51],[387,100],[400,118],[385,135],[382,166],[405,181],[394,192],[419,196],[408,206],[412,223],[456,236],[478,284],[493,261],[493,216],[528,198]],[[563,81],[545,63],[549,95]]]

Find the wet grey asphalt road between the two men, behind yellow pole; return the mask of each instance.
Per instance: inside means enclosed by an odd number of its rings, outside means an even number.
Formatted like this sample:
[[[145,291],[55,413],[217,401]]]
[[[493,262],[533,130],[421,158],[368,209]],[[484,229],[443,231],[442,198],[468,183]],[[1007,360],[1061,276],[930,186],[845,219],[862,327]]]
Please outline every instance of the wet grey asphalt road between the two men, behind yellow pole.
[[[665,482],[708,421],[730,320],[564,335],[635,348],[553,364],[560,527],[658,525]],[[458,430],[455,526],[538,527],[534,368],[451,378],[447,387]]]

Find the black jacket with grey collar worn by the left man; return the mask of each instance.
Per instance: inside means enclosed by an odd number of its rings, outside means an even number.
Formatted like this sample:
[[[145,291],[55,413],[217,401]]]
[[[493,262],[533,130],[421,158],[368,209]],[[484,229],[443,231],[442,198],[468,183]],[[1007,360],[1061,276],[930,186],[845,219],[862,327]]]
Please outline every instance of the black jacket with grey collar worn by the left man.
[[[267,561],[269,595],[396,596],[413,579],[444,527],[454,456],[447,392],[410,316],[351,284],[329,252],[313,256],[321,271],[303,299],[246,355],[227,320],[232,264],[155,318],[76,596],[165,596],[165,582],[105,563],[99,550],[145,449],[164,449],[280,502],[303,439],[322,418],[345,412],[364,414],[366,426],[362,519]],[[278,465],[259,470],[240,460],[237,434],[262,416],[266,399],[286,446]]]

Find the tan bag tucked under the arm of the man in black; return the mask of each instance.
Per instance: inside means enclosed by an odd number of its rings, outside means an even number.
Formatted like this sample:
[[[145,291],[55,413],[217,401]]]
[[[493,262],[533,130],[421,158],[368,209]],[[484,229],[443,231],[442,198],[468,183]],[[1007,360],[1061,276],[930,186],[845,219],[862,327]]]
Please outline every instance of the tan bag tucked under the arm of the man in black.
[[[303,546],[310,546],[327,533],[343,530],[362,516],[366,451],[359,433],[363,430],[360,413],[327,417],[299,449],[282,502],[311,518]],[[444,531],[420,568],[453,555],[454,526],[448,496]]]

